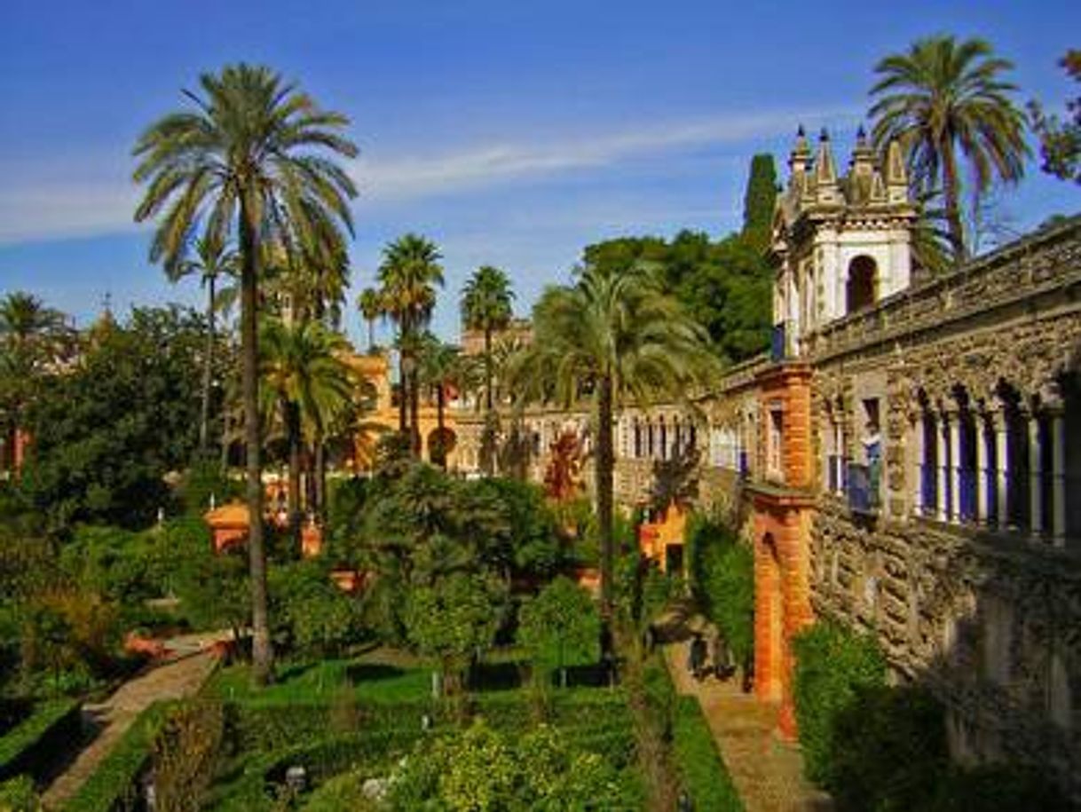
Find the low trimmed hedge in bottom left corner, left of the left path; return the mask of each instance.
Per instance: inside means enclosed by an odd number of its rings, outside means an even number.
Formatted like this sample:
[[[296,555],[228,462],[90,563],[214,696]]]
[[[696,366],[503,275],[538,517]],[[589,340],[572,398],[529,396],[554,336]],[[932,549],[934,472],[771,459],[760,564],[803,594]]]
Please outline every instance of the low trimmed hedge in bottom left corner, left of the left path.
[[[27,774],[41,783],[65,745],[82,736],[82,706],[76,700],[43,702],[0,738],[0,782]]]

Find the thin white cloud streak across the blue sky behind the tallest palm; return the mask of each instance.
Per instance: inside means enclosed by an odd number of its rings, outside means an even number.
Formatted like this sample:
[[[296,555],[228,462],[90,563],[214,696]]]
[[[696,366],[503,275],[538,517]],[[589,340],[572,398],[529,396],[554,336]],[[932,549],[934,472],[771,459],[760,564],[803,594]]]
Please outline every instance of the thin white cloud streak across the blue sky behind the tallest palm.
[[[762,111],[642,127],[546,142],[481,144],[454,152],[365,155],[353,167],[361,203],[418,200],[523,178],[619,165],[694,147],[735,144],[789,132],[800,120],[849,119],[848,109]],[[130,231],[139,190],[126,173],[103,165],[101,154],[80,163],[0,162],[0,244]],[[3,165],[6,164],[6,165]],[[10,171],[9,171],[10,170]]]

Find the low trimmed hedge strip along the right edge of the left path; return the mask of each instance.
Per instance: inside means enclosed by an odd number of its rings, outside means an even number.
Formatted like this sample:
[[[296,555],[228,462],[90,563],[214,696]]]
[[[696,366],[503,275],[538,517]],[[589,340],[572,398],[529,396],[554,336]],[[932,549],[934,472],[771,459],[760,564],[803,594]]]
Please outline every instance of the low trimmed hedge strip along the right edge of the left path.
[[[150,763],[154,741],[169,716],[170,703],[155,703],[132,723],[63,812],[126,812],[134,808],[136,784]]]

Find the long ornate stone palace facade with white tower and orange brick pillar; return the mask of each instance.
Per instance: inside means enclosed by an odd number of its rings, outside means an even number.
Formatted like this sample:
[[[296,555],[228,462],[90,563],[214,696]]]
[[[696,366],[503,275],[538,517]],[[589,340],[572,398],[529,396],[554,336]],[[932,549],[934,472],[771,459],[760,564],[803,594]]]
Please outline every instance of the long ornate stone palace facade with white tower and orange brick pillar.
[[[1081,797],[1081,217],[932,276],[899,149],[860,133],[842,174],[801,132],[788,168],[771,351],[690,409],[624,408],[617,501],[697,450],[697,503],[753,545],[756,692],[783,735],[791,638],[837,618],[944,702],[959,759],[1036,763]],[[590,420],[528,410],[531,476],[561,435],[588,449]],[[455,425],[476,468],[481,417]]]

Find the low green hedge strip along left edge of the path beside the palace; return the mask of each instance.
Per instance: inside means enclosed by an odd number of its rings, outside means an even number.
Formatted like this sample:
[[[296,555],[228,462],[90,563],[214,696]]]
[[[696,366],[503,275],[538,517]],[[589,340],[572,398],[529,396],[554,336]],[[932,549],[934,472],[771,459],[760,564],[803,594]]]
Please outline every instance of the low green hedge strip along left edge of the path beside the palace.
[[[672,724],[672,755],[694,809],[743,812],[744,804],[693,696],[680,696]]]

